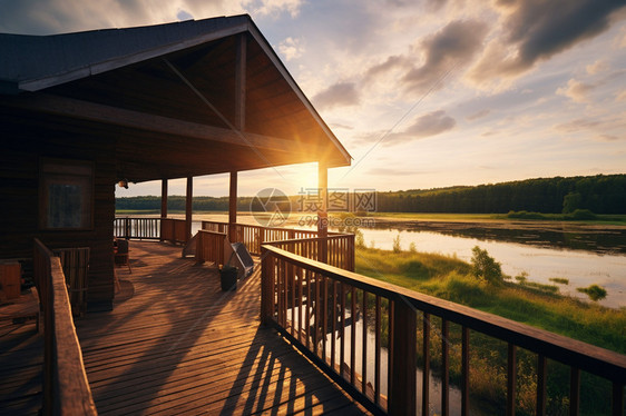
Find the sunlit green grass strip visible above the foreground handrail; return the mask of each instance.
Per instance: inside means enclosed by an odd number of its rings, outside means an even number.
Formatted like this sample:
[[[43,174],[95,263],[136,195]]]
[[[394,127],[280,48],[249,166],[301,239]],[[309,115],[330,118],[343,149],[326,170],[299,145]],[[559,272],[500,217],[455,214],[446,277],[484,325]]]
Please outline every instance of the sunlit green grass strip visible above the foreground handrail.
[[[471,266],[457,258],[362,247],[356,273],[626,354],[626,309],[564,296],[552,285],[493,286],[477,280]]]

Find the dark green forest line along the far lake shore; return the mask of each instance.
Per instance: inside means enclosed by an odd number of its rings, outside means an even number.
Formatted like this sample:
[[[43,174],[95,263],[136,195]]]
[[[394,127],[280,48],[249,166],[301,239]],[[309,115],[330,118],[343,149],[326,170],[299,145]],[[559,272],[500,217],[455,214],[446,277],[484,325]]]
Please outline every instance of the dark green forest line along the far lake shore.
[[[295,207],[299,196],[291,197]],[[597,175],[518,180],[479,186],[376,192],[380,212],[506,214],[531,211],[569,214],[626,214],[626,175]],[[237,209],[251,210],[253,197],[237,198]],[[168,197],[168,209],[185,210],[185,197]],[[160,197],[116,199],[118,210],[158,210]],[[226,211],[228,197],[194,197],[197,211]],[[255,204],[253,210],[263,208]],[[295,208],[294,208],[295,209]]]

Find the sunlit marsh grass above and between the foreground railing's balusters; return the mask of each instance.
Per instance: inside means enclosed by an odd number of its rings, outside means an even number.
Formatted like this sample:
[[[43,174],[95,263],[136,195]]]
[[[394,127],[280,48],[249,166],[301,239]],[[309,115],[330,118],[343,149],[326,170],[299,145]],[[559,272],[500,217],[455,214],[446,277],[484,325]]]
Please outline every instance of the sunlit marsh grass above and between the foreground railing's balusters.
[[[472,275],[471,265],[454,257],[423,252],[393,252],[361,247],[356,250],[356,271],[476,309],[539,327],[588,344],[626,354],[626,308],[610,309],[560,295],[551,285],[524,279],[490,285]],[[526,277],[526,276],[525,276]],[[531,277],[529,277],[531,278]],[[519,279],[518,279],[519,280]],[[418,313],[418,319],[422,315]],[[419,320],[420,321],[420,320]],[[431,317],[431,366],[441,370],[441,319]],[[383,333],[387,334],[383,321]],[[384,339],[384,338],[383,338]],[[422,325],[418,324],[418,340]],[[461,328],[450,325],[450,379],[460,384]],[[489,413],[501,414],[506,403],[507,345],[471,331],[470,385],[472,396]],[[418,346],[418,363],[423,361]],[[518,348],[517,410],[535,412],[536,363],[534,353]],[[569,406],[569,367],[548,364],[548,414],[566,414]],[[589,374],[581,378],[584,414],[609,412],[610,384]],[[607,407],[607,408],[605,408]]]

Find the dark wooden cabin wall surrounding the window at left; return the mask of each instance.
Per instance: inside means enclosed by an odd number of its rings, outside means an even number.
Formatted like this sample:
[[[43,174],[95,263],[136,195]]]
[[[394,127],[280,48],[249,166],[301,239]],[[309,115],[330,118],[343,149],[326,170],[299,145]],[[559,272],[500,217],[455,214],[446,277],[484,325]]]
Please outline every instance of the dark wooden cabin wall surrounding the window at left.
[[[32,258],[35,237],[50,249],[89,247],[88,311],[111,309],[116,131],[0,106],[0,259]],[[40,229],[41,158],[94,164],[92,229]]]

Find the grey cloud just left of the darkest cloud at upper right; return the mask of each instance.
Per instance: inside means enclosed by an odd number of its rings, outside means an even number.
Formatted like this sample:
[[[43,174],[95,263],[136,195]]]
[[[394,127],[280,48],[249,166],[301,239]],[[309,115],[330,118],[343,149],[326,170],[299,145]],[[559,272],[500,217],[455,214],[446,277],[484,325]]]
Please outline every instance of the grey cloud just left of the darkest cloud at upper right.
[[[441,78],[456,66],[471,61],[480,50],[487,24],[476,20],[456,20],[423,40],[418,52],[424,57],[419,68],[413,68],[403,78],[407,89],[424,93],[438,90]]]

